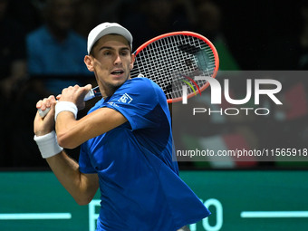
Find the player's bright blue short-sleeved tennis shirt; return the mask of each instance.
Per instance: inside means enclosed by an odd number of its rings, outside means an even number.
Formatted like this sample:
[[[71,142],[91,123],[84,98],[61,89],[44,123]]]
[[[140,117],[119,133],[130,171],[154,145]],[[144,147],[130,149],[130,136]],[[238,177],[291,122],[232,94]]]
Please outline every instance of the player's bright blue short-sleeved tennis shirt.
[[[102,107],[120,111],[128,122],[82,144],[81,172],[100,178],[97,230],[172,231],[207,217],[172,161],[171,119],[159,86],[131,79],[89,113]]]

